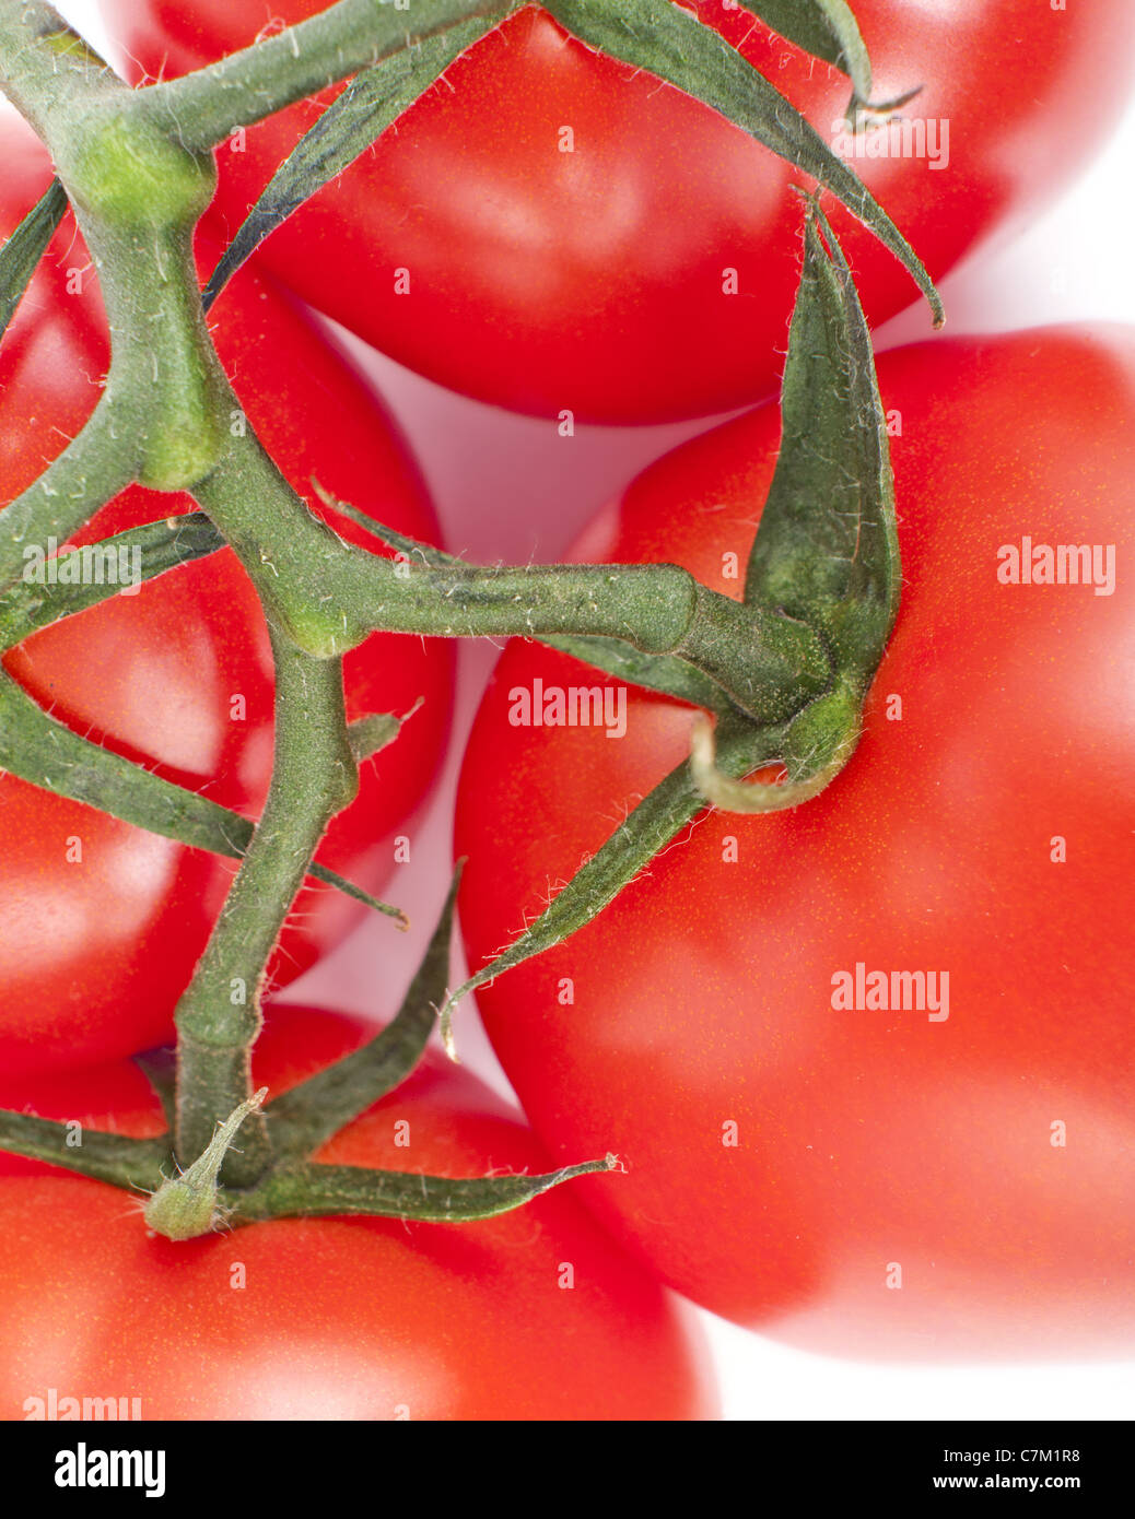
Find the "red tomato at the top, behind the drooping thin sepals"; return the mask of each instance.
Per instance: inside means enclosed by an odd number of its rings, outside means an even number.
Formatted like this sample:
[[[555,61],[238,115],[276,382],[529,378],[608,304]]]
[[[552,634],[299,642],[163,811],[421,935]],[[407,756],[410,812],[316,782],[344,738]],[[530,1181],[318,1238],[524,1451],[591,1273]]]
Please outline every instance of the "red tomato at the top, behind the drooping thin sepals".
[[[849,97],[843,74],[746,11],[690,8],[833,138]],[[103,5],[135,79],[184,73],[322,9]],[[854,9],[875,99],[924,90],[907,108],[922,156],[852,163],[934,278],[1067,184],[1132,76],[1130,0]],[[330,99],[222,147],[231,232]],[[796,179],[707,106],[568,41],[529,8],[448,68],[397,132],[269,238],[263,258],[390,357],[479,399],[600,422],[700,416],[773,389],[799,272]],[[916,299],[906,270],[852,217],[834,225],[872,322]],[[409,293],[398,293],[406,275]]]

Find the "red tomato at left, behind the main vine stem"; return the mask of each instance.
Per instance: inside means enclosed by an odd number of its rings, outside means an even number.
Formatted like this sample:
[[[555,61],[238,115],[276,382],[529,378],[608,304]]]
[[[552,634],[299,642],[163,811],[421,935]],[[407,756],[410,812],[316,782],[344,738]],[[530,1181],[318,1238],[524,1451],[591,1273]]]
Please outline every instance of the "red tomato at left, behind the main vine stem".
[[[9,118],[0,231],[50,170]],[[211,249],[210,249],[211,252]],[[81,287],[81,293],[67,293]],[[252,424],[311,506],[311,477],[415,536],[436,533],[401,436],[377,398],[299,310],[246,273],[214,331]],[[84,422],[106,366],[102,305],[70,219],[0,348],[0,500],[24,489]],[[131,489],[76,541],[185,512],[188,497]],[[375,545],[353,527],[336,527]],[[55,717],[167,779],[255,816],[272,766],[272,662],[252,586],[231,551],[119,595],[29,638],[5,665]],[[378,890],[448,725],[441,641],[374,636],[346,656],[351,717],[422,709],[333,823],[321,861]],[[237,699],[243,699],[243,708]],[[122,823],[12,776],[0,779],[0,1065],[105,1060],[170,1036],[236,864]],[[275,957],[290,980],[359,916],[305,889]]]

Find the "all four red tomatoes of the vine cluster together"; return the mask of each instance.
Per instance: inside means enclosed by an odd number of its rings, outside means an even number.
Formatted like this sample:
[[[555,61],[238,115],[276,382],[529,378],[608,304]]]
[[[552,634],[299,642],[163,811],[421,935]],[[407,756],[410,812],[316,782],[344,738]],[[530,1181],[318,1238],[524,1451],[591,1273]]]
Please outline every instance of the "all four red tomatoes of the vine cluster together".
[[[816,126],[842,114],[836,70],[737,6],[690,8]],[[322,5],[105,9],[141,77]],[[934,278],[1061,188],[1132,76],[1129,0],[854,11],[878,96],[922,84],[909,109],[948,123],[948,163],[855,164]],[[395,425],[296,296],[447,386],[536,415],[631,424],[764,403],[652,465],[579,545],[740,595],[723,567],[746,562],[776,462],[767,396],[798,275],[793,173],[628,74],[544,12],[517,14],[226,287],[217,349],[313,510],[318,478],[436,542]],[[324,103],[219,149],[202,272]],[[15,120],[0,152],[8,235],[50,164]],[[868,316],[907,304],[901,266],[834,222]],[[5,501],[90,415],[106,354],[67,220],[0,348]],[[172,1244],[112,1188],[0,1154],[3,1417],[46,1388],[140,1396],[158,1419],[707,1417],[714,1393],[667,1288],[833,1353],[1130,1344],[1135,334],[936,339],[884,355],[878,378],[903,608],[843,775],[793,811],[702,814],[591,925],[480,993],[538,1139],[428,1057],[321,1151],[474,1176],[615,1150],[624,1174],[482,1224],[283,1220]],[[132,488],[81,541],[191,509]],[[1045,576],[1038,548],[1079,576]],[[263,805],[270,655],[229,551],[35,633],[5,667],[115,752],[249,816]],[[506,650],[457,801],[474,968],[690,747],[693,711],[635,687],[617,741],[514,726],[511,694],[536,681],[618,685],[532,643]],[[450,682],[442,641],[375,633],[348,656],[348,715],[422,699],[319,851],[371,890],[436,769]],[[232,863],[12,776],[0,831],[0,1106],[160,1132],[129,1056],[172,1037]],[[273,981],[353,922],[337,893],[305,889]],[[833,990],[878,972],[878,986],[933,975],[937,1016]],[[284,1089],[365,1037],[342,1016],[278,1009],[254,1075]]]

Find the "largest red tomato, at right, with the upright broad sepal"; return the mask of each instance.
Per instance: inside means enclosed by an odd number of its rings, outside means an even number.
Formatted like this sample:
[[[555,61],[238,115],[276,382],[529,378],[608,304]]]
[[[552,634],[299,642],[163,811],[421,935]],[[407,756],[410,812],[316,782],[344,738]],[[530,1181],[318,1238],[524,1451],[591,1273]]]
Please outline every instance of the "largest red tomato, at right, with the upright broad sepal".
[[[582,1183],[603,1223],[707,1308],[860,1356],[1130,1353],[1135,336],[921,345],[880,383],[904,592],[846,770],[703,813],[480,1007],[552,1153],[626,1159]],[[666,456],[582,557],[737,595],[778,430]],[[1095,545],[1100,589],[1001,583],[1024,538]],[[635,688],[623,738],[511,726],[536,677],[600,682],[523,643],[497,668],[457,804],[474,966],[688,753],[691,711]],[[892,972],[933,972],[921,1010]]]

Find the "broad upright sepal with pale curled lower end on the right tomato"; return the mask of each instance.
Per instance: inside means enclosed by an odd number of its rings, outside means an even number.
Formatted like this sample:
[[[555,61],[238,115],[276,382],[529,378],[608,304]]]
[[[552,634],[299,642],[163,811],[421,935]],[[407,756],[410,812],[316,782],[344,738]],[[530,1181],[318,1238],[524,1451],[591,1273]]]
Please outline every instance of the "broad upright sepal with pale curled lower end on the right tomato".
[[[781,448],[749,554],[746,605],[772,603],[824,638],[834,679],[786,725],[782,785],[716,766],[694,723],[690,770],[714,807],[781,811],[817,796],[851,758],[871,677],[898,612],[901,565],[886,422],[871,334],[843,252],[808,202],[804,270],[781,387]],[[839,460],[840,468],[833,468]],[[822,509],[816,501],[822,500]]]

